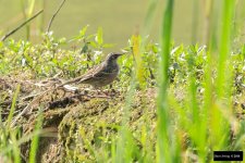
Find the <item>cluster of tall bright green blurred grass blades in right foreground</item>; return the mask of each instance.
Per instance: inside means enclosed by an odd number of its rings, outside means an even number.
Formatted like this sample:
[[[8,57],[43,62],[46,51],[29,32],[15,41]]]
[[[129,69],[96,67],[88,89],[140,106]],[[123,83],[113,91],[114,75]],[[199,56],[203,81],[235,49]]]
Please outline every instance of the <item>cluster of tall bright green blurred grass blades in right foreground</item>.
[[[234,13],[234,1],[226,0],[222,2],[222,22],[217,22],[215,26],[220,28],[209,28],[211,37],[215,38],[221,29],[219,43],[219,54],[212,50],[216,47],[213,43],[208,45],[207,49],[207,67],[205,71],[205,102],[198,102],[198,90],[196,82],[196,72],[194,72],[195,60],[194,57],[198,54],[195,47],[187,53],[188,60],[188,89],[187,96],[184,100],[185,104],[177,103],[175,97],[168,98],[169,90],[169,60],[171,49],[171,22],[173,13],[173,1],[167,2],[167,9],[163,14],[162,24],[162,57],[158,96],[158,162],[182,162],[183,153],[181,151],[180,140],[183,136],[177,135],[182,129],[185,130],[189,137],[192,146],[187,147],[186,151],[191,151],[192,155],[196,155],[198,162],[209,162],[212,158],[213,150],[229,150],[231,149],[231,130],[232,124],[237,123],[232,111],[232,65],[231,65],[231,33],[232,18]],[[210,15],[212,16],[212,15]],[[192,49],[192,48],[191,48]],[[217,76],[213,73],[217,72]],[[215,83],[212,80],[216,80]],[[177,89],[177,88],[176,88]],[[171,95],[170,95],[171,96]],[[169,101],[172,99],[173,101]],[[172,105],[169,104],[171,102]],[[173,105],[175,103],[175,105]],[[171,113],[170,108],[176,111]],[[183,116],[188,116],[191,118]],[[176,114],[176,115],[171,115]],[[180,115],[177,115],[180,114]],[[180,118],[175,118],[179,117]],[[174,122],[174,123],[173,123]],[[174,125],[173,125],[174,124]],[[175,129],[174,129],[175,128]],[[186,153],[184,153],[186,154]],[[189,159],[189,155],[188,155]],[[181,161],[182,160],[182,161]]]

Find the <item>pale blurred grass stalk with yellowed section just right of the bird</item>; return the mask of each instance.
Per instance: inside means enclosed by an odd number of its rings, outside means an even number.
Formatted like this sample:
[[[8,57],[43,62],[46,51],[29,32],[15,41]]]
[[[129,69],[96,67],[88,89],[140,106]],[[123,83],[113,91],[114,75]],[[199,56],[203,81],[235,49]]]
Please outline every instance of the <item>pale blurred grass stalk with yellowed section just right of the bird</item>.
[[[133,134],[130,131],[130,114],[132,109],[132,103],[134,102],[134,96],[136,93],[135,89],[136,86],[139,86],[140,89],[146,89],[146,80],[144,79],[144,64],[143,64],[143,55],[144,55],[144,48],[146,46],[146,35],[152,27],[152,21],[156,15],[156,9],[158,4],[158,0],[151,0],[149,2],[149,8],[146,14],[145,18],[145,25],[142,30],[142,38],[139,35],[133,35],[132,36],[132,53],[134,55],[134,71],[132,72],[132,79],[131,85],[128,88],[128,91],[126,93],[126,99],[124,103],[124,114],[122,120],[122,128],[120,129],[120,136],[118,139],[117,145],[112,145],[112,147],[117,147],[115,151],[112,148],[111,153],[112,154],[112,161],[113,162],[133,162],[135,159],[140,160],[140,162],[148,162],[150,161],[149,158],[152,158],[152,151],[150,151],[150,147],[148,147],[148,137],[150,136],[150,133],[146,131],[146,128],[149,127],[148,124],[145,124],[145,128],[142,130],[142,145],[143,149],[142,152],[139,152],[138,147],[136,146],[136,142],[134,141]],[[143,111],[144,112],[144,111]],[[146,122],[149,121],[146,117]]]

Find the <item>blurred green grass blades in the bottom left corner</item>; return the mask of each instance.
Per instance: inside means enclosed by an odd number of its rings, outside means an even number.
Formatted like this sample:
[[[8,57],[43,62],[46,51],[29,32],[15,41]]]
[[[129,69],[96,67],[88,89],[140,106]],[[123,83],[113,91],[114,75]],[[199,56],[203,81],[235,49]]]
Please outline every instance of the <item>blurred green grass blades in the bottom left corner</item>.
[[[3,121],[2,117],[0,117],[0,159],[3,162],[14,163],[21,163],[25,161],[23,160],[24,158],[21,154],[21,146],[33,139],[30,145],[29,162],[35,163],[39,135],[41,134],[40,128],[42,123],[42,114],[39,114],[36,120],[36,126],[34,131],[28,135],[23,135],[21,129],[22,127],[20,127],[21,125],[15,127],[11,126],[11,123],[14,117],[14,111],[16,109],[16,102],[19,100],[20,90],[21,86],[17,85],[12,98],[12,104],[7,120]],[[0,110],[0,113],[2,113],[2,110]]]

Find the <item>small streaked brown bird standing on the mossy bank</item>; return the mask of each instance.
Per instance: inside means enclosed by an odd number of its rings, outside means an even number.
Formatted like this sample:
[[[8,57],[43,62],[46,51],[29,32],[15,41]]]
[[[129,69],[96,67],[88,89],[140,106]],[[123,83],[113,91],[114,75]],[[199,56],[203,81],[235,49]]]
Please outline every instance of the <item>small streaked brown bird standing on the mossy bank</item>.
[[[84,75],[69,80],[58,87],[62,87],[69,84],[88,84],[95,89],[107,86],[111,84],[119,74],[118,58],[124,53],[111,52],[107,55],[106,60],[99,65],[87,71]]]

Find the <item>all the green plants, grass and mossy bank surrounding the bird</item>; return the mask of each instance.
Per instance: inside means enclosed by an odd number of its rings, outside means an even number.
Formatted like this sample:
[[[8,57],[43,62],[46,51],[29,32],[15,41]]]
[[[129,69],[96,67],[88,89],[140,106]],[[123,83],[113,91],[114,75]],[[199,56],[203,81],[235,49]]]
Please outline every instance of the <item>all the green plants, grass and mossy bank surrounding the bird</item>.
[[[210,28],[207,46],[171,41],[173,7],[168,0],[160,43],[130,38],[110,99],[84,86],[78,96],[58,90],[35,100],[103,60],[112,45],[102,28],[87,35],[85,26],[72,39],[49,32],[37,45],[0,42],[0,162],[48,162],[47,153],[63,162],[211,162],[216,150],[245,151],[245,46],[231,46],[235,2],[222,2],[221,34]]]

